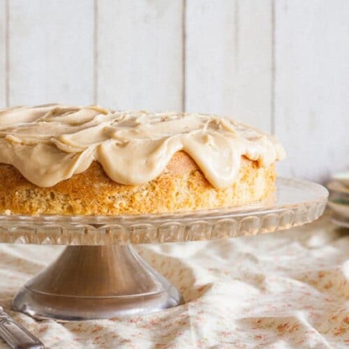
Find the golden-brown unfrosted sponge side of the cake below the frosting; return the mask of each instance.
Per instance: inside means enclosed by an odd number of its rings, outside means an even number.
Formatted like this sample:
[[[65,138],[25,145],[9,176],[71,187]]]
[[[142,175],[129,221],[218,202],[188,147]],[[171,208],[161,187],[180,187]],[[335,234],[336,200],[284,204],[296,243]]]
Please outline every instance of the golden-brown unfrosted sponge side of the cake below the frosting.
[[[0,211],[13,214],[146,214],[247,205],[274,193],[274,164],[263,168],[242,157],[235,183],[209,184],[198,165],[177,151],[156,179],[140,185],[112,181],[102,166],[91,166],[50,188],[25,179],[12,165],[0,164]]]

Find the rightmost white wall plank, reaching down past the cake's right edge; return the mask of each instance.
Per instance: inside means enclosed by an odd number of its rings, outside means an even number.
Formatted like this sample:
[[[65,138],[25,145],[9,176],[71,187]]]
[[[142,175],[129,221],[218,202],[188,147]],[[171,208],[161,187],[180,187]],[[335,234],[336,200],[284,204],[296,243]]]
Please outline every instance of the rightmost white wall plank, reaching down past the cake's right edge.
[[[275,133],[281,174],[349,168],[349,2],[275,1]]]

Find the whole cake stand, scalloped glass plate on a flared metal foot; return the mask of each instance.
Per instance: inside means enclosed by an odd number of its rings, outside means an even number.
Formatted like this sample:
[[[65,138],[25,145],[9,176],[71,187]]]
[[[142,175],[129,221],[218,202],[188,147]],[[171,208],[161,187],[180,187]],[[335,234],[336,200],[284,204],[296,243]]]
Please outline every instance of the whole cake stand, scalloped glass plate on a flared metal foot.
[[[67,245],[13,300],[34,318],[87,320],[151,313],[183,303],[132,244],[225,239],[285,230],[319,218],[327,190],[277,180],[273,203],[128,216],[0,216],[0,242]]]

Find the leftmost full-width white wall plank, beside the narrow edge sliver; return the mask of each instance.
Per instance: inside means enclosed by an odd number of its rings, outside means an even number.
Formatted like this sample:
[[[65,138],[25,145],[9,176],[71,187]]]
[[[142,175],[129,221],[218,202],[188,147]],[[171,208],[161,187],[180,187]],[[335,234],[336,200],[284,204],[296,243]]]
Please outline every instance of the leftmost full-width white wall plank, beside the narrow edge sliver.
[[[10,1],[10,104],[93,103],[93,0]]]

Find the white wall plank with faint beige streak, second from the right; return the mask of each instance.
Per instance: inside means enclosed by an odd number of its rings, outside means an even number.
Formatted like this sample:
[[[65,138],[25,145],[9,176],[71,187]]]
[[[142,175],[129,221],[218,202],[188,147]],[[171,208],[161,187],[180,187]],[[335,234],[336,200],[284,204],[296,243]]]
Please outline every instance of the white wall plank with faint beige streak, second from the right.
[[[186,110],[271,131],[271,70],[271,0],[187,1]]]

